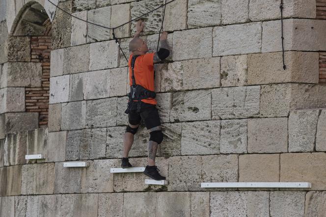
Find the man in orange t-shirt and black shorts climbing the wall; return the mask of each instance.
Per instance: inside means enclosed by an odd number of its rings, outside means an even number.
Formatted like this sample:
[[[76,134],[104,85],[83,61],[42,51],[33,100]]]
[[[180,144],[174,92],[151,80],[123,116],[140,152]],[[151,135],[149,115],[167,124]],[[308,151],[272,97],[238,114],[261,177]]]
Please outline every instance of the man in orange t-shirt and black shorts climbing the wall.
[[[160,37],[160,50],[155,53],[148,53],[147,44],[139,38],[144,28],[143,21],[136,24],[136,35],[129,44],[131,55],[129,58],[130,84],[128,113],[129,126],[124,136],[124,151],[121,166],[122,168],[132,167],[129,163],[128,154],[134,143],[134,136],[139,127],[140,120],[145,123],[150,132],[148,143],[148,163],[144,174],[155,180],[165,180],[159,169],[155,166],[155,157],[158,145],[163,141],[163,133],[155,99],[154,87],[154,63],[167,58],[170,54],[166,41],[167,32]]]

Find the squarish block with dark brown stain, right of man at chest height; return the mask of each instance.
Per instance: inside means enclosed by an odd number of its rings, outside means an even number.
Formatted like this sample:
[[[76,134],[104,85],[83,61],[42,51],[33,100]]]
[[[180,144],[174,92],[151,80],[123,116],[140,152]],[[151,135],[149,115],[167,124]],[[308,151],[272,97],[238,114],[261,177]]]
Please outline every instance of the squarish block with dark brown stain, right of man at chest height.
[[[220,80],[221,86],[244,86],[248,77],[248,56],[221,57]]]

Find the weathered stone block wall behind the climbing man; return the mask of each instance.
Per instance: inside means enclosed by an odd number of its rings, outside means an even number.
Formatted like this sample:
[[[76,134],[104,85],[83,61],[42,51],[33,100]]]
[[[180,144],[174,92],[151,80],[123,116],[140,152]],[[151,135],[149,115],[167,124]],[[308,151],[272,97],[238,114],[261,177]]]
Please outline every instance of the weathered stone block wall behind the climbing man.
[[[59,0],[58,5],[115,27],[162,3]],[[283,70],[279,4],[176,0],[166,6],[164,29],[173,51],[155,66],[164,134],[157,165],[166,186],[146,185],[141,173],[109,173],[120,167],[128,123],[127,64],[110,30],[57,10],[49,125],[16,130],[0,140],[0,182],[5,183],[0,216],[322,217],[326,20],[320,19],[319,1],[284,1]],[[151,51],[162,14],[163,9],[145,17],[141,37]],[[135,22],[115,30],[127,54],[134,32]],[[24,53],[21,47],[17,55]],[[16,89],[6,91],[4,96],[16,94]],[[19,108],[6,102],[0,109]],[[130,153],[134,166],[146,165],[148,139],[141,126]],[[45,159],[26,161],[26,154]],[[66,161],[88,166],[66,168]],[[312,188],[202,189],[201,182],[311,182]]]

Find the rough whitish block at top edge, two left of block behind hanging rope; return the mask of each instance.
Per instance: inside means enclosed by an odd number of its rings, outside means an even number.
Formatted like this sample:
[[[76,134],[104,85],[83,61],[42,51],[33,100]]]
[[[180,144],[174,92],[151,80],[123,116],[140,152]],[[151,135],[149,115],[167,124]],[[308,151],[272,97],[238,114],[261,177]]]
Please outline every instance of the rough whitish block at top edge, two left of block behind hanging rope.
[[[221,23],[221,0],[188,2],[188,27],[211,27]]]

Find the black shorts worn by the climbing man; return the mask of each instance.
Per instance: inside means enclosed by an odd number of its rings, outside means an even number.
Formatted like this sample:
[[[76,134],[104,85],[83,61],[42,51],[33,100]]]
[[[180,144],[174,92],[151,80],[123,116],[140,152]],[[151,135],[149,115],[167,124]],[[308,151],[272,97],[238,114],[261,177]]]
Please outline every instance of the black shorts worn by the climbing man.
[[[131,102],[128,121],[131,125],[140,123],[140,119],[145,123],[146,128],[149,130],[153,127],[161,126],[159,112],[155,105],[141,102],[140,112],[137,112],[137,102]]]

